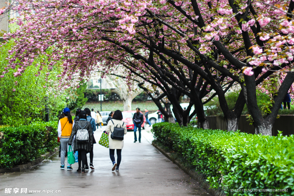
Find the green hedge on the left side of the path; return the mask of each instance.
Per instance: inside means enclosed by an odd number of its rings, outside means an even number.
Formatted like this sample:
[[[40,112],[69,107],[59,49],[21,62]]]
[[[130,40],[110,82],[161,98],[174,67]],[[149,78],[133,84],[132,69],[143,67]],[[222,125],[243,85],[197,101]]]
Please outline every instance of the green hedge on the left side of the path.
[[[58,146],[57,136],[56,122],[0,128],[0,168],[25,164],[52,151]]]

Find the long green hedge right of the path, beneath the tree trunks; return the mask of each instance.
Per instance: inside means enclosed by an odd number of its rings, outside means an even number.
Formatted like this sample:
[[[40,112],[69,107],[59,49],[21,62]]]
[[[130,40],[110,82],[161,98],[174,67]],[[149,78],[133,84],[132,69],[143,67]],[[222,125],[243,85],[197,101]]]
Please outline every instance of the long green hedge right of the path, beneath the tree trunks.
[[[154,124],[152,132],[159,142],[193,163],[212,187],[227,195],[294,195],[293,135],[262,136],[169,123]]]

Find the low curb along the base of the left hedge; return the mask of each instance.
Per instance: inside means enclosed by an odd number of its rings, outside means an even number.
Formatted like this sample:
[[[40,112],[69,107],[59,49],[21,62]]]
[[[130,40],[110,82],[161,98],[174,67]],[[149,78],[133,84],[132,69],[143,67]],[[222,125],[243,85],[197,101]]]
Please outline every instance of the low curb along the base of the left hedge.
[[[32,167],[34,167],[35,165],[41,163],[44,159],[51,157],[52,155],[54,155],[57,151],[59,151],[59,148],[54,148],[54,151],[52,152],[48,152],[44,155],[41,155],[40,158],[37,158],[27,164],[24,165],[19,165],[17,167],[11,168],[11,169],[0,169],[0,173],[8,173],[8,172],[18,172],[21,170],[26,170],[26,169],[30,169]]]

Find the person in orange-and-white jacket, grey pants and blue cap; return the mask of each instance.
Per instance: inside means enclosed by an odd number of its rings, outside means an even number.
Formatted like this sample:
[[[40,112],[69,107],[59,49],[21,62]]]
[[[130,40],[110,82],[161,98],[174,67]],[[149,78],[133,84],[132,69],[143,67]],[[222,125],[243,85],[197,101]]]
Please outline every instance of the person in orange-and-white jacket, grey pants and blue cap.
[[[72,129],[74,127],[74,120],[71,117],[71,111],[69,108],[63,110],[64,118],[61,118],[58,122],[58,137],[60,138],[61,156],[60,156],[60,169],[64,170],[64,158],[66,149],[69,149],[69,137],[71,136]],[[73,170],[71,164],[67,163],[67,170]]]

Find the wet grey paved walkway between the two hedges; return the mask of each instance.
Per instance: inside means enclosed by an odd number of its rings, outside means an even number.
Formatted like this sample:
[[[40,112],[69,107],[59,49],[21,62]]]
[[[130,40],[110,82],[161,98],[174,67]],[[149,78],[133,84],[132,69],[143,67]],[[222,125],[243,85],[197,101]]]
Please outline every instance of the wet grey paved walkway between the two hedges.
[[[105,126],[104,126],[105,127]],[[43,161],[30,170],[0,174],[0,195],[27,195],[29,190],[61,190],[60,193],[31,193],[31,195],[210,195],[199,187],[177,165],[161,154],[151,145],[153,136],[150,128],[142,130],[142,143],[133,143],[134,133],[125,135],[122,150],[122,162],[119,172],[112,172],[109,150],[99,144],[94,145],[93,165],[84,174],[76,172],[78,163],[72,165],[74,170],[60,170],[58,153],[51,160]],[[100,128],[94,136],[98,142]],[[138,137],[138,132],[137,132]],[[116,156],[116,155],[115,155]],[[89,162],[89,154],[88,154]],[[28,188],[27,194],[4,194],[5,188]]]

